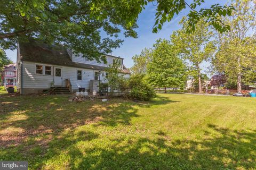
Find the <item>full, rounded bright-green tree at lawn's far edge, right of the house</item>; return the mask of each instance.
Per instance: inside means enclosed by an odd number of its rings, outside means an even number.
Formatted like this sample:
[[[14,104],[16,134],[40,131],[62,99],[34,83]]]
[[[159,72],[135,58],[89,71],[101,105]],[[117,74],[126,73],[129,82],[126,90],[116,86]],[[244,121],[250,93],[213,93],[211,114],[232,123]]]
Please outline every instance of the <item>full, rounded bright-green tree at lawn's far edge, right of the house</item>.
[[[178,57],[170,41],[157,40],[151,61],[147,67],[147,78],[154,87],[183,88],[186,83],[186,66]]]

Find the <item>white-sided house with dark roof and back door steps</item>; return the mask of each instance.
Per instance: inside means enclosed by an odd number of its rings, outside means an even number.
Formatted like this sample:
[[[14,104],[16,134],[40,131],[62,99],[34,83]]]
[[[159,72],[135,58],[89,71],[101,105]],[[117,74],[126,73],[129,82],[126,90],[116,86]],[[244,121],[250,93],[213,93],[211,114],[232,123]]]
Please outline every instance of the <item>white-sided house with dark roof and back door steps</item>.
[[[105,56],[107,63],[98,63],[82,54],[77,56],[73,50],[63,46],[49,46],[35,41],[20,43],[17,50],[17,91],[21,94],[36,93],[51,87],[66,87],[67,82],[71,83],[70,92],[80,87],[89,90],[93,80],[106,81],[105,69],[116,60],[122,63],[124,77],[130,77],[123,58]]]

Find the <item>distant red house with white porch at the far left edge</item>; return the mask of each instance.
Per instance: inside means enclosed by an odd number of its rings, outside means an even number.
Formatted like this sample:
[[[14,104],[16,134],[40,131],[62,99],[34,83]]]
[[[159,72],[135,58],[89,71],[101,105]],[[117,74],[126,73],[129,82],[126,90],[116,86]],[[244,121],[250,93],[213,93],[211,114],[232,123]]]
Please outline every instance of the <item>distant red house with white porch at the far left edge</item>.
[[[13,87],[17,84],[17,68],[16,63],[4,66],[1,75],[1,85],[5,87]]]

